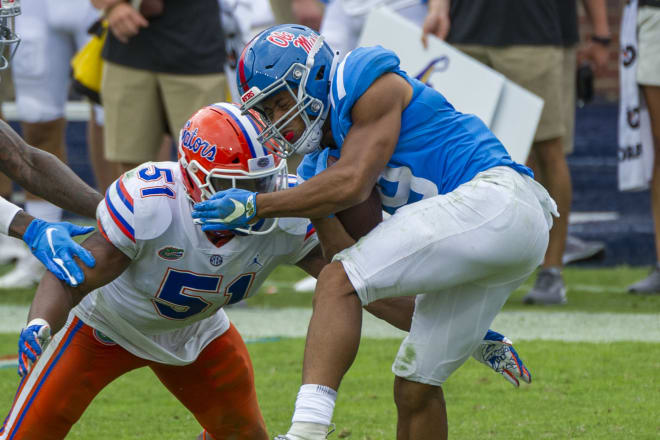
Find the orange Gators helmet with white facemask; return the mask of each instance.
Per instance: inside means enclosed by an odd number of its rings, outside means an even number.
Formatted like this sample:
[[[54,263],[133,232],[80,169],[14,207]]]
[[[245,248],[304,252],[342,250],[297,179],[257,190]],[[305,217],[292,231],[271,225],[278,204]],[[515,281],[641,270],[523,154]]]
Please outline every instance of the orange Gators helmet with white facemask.
[[[179,136],[179,165],[188,197],[195,203],[229,188],[273,192],[287,188],[286,161],[259,142],[263,122],[236,104],[217,103],[198,110]],[[270,148],[272,149],[272,148]],[[267,234],[277,219],[237,228],[244,234]]]

